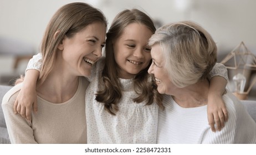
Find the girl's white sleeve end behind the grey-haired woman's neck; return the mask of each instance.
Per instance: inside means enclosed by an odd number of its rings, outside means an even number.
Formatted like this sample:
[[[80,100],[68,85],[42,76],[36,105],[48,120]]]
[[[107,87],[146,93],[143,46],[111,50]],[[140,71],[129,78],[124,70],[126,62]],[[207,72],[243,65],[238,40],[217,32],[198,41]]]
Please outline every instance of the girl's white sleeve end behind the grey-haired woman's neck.
[[[228,70],[226,66],[221,63],[216,63],[209,73],[208,79],[211,80],[214,76],[222,76],[228,81]]]

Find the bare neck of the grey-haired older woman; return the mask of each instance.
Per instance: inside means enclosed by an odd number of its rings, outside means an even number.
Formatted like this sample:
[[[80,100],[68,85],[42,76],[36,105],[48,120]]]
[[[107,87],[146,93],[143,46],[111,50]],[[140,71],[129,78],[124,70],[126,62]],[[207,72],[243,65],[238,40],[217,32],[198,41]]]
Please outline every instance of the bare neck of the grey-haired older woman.
[[[199,107],[207,105],[209,82],[199,81],[196,84],[181,88],[173,100],[181,107]],[[180,92],[180,93],[179,93]]]

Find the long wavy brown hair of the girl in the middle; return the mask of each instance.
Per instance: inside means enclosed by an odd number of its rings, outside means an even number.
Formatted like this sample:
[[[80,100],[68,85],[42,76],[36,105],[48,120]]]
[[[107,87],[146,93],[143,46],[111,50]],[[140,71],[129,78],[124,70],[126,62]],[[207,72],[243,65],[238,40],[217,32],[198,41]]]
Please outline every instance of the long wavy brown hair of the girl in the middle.
[[[103,82],[104,87],[96,94],[96,100],[103,102],[105,109],[112,115],[115,115],[118,111],[117,104],[122,98],[121,86],[117,77],[119,71],[116,68],[117,64],[114,56],[113,43],[120,37],[127,25],[131,23],[143,24],[149,28],[152,33],[155,33],[156,30],[151,18],[138,9],[126,9],[117,14],[113,20],[106,34],[106,60],[101,74],[101,79],[103,79],[101,82]],[[140,73],[134,77],[134,90],[139,96],[133,100],[137,103],[146,101],[146,105],[151,105],[155,99],[157,104],[162,107],[162,96],[158,94],[155,82],[151,80],[151,75],[147,73],[149,66],[141,70]]]

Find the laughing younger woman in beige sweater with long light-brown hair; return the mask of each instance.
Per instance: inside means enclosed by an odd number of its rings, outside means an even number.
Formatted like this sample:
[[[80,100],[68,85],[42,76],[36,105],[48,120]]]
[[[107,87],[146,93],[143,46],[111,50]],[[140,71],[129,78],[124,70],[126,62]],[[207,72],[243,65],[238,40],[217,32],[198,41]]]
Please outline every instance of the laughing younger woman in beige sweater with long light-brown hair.
[[[11,143],[86,143],[85,90],[93,63],[105,45],[106,19],[86,3],[61,7],[42,40],[42,70],[37,82],[37,114],[14,115],[22,84],[3,97]],[[85,77],[84,77],[85,76]],[[28,75],[26,75],[28,77]]]

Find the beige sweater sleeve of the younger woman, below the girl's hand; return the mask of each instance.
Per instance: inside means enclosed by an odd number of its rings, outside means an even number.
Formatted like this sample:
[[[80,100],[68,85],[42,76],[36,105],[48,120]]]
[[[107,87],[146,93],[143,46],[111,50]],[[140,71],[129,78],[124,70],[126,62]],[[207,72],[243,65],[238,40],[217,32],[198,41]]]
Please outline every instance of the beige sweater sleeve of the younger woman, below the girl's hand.
[[[17,92],[22,86],[21,84],[14,86],[3,97],[2,108],[8,134],[11,143],[37,143],[33,136],[31,121],[27,121],[21,115],[13,112],[13,105],[18,95]]]

